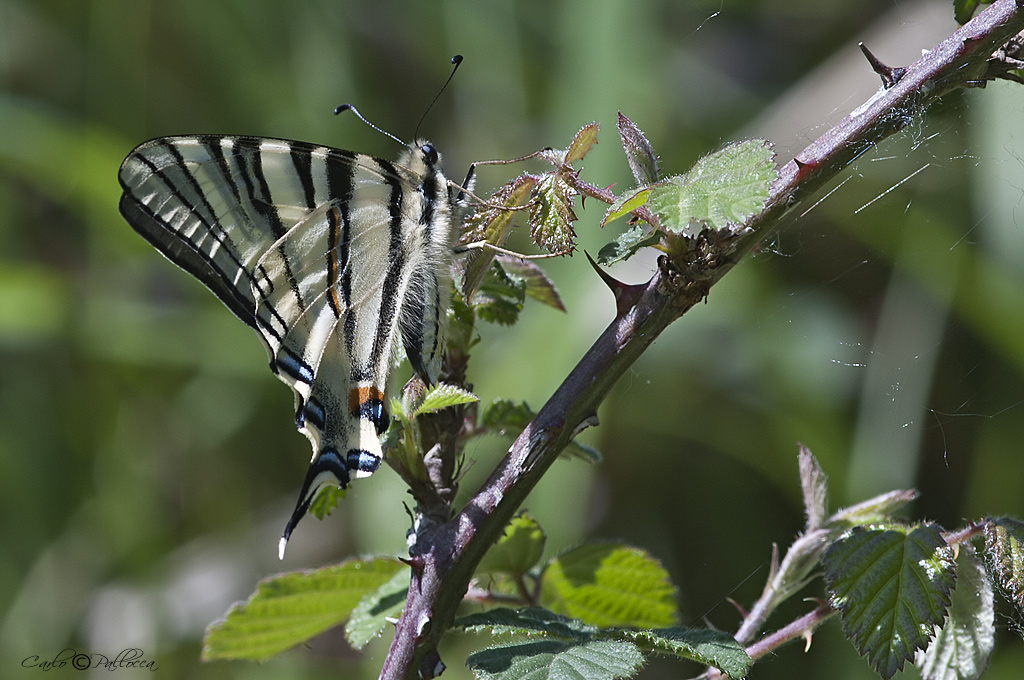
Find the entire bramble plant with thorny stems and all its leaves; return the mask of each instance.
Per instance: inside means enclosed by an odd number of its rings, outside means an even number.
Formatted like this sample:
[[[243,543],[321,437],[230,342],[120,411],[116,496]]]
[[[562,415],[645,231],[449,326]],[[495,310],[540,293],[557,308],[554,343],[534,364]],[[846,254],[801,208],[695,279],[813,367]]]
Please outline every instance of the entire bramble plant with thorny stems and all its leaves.
[[[677,586],[655,556],[638,548],[587,544],[542,561],[544,529],[520,511],[559,455],[599,461],[573,437],[596,424],[610,387],[783,214],[939,97],[996,78],[1022,82],[1024,6],[997,0],[971,19],[979,4],[957,0],[965,26],[905,69],[867,53],[884,87],[781,168],[771,144],[755,139],[665,176],[652,145],[623,115],[617,131],[633,189],[614,195],[581,177],[577,168],[597,142],[596,124],[584,126],[565,150],[527,157],[545,169],[501,186],[464,225],[464,245],[495,248],[475,248],[461,262],[441,384],[427,388],[414,378],[391,402],[387,462],[415,499],[409,556],[268,579],[210,628],[204,658],[265,660],[342,624],[360,649],[393,624],[382,678],[439,675],[437,644],[450,631],[502,636],[467,660],[481,678],[565,677],[569,669],[579,678],[626,678],[650,654],[696,662],[710,678],[742,678],[770,651],[838,618],[883,678],[906,663],[928,680],[979,677],[993,647],[994,593],[1024,617],[1018,519],[978,518],[952,529],[906,521],[899,513],[915,498],[911,490],[831,512],[825,474],[801,447],[806,525],[781,559],[773,554],[762,596],[730,634],[680,627]],[[616,316],[540,411],[515,400],[481,406],[466,376],[476,324],[514,324],[527,298],[561,305],[539,266],[496,252],[519,215],[539,247],[570,252],[573,204],[584,197],[608,205],[602,224],[629,219],[594,263],[613,293]],[[645,285],[622,284],[599,268],[645,248],[660,253]],[[463,447],[488,433],[515,441],[457,507]],[[333,499],[321,500],[314,510],[323,515]],[[816,593],[812,583],[820,583]],[[815,600],[810,611],[767,629],[779,604],[798,595]]]

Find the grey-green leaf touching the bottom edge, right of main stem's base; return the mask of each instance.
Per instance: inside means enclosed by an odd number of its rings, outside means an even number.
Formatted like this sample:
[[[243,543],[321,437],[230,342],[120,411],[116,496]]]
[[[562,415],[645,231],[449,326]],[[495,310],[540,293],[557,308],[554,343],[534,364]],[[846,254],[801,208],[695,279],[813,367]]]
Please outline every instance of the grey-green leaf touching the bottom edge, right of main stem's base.
[[[538,640],[473,652],[466,666],[487,680],[614,680],[632,677],[643,662],[628,642]]]

